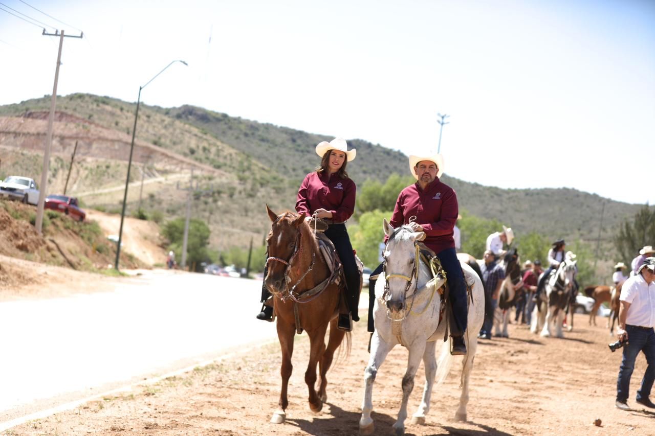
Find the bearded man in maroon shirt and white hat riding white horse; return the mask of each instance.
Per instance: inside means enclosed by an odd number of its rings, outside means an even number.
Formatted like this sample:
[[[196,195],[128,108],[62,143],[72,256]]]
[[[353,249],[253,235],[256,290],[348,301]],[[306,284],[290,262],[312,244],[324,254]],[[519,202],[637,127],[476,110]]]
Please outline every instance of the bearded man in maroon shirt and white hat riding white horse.
[[[453,354],[466,354],[464,331],[468,306],[464,274],[457,259],[453,227],[458,216],[457,194],[445,185],[439,177],[443,173],[441,154],[409,156],[409,169],[417,179],[398,194],[390,225],[397,228],[409,225],[414,232],[424,232],[423,243],[441,261],[447,274],[451,301],[452,319],[450,333],[453,338]],[[385,242],[388,239],[385,238]],[[371,276],[382,272],[380,264]],[[373,304],[375,303],[375,280],[369,280],[369,331],[373,331]]]

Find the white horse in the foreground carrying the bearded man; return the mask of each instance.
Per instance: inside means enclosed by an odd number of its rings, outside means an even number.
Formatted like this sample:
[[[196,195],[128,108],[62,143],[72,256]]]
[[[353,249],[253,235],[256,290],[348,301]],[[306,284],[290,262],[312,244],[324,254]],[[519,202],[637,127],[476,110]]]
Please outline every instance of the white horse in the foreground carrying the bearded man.
[[[426,382],[421,405],[413,415],[412,424],[424,424],[425,414],[430,409],[434,381],[437,378],[438,384],[443,382],[452,363],[452,340],[449,338],[443,341],[446,333],[445,321],[440,322],[442,296],[438,290],[445,283],[445,274],[443,270],[439,270],[436,277],[432,278],[429,266],[419,259],[419,250],[415,243],[425,238],[424,232],[413,232],[408,226],[394,230],[385,219],[384,233],[389,236],[384,247],[385,269],[378,279],[381,285],[376,287],[373,308],[375,332],[371,338],[371,357],[364,370],[364,401],[360,418],[360,433],[363,435],[370,435],[375,429],[371,418],[373,382],[386,355],[396,344],[401,344],[409,350],[407,371],[402,380],[402,403],[398,420],[393,426],[396,435],[405,433],[407,400],[414,388],[414,377],[421,359],[425,365]],[[472,295],[467,297],[470,302],[464,334],[467,353],[464,355],[460,378],[462,394],[455,413],[457,420],[466,421],[468,382],[476,355],[477,332],[484,320],[485,297],[482,282],[477,274],[467,264],[462,263],[462,269],[465,281],[474,283]],[[443,316],[443,319],[445,318],[447,316]],[[435,356],[437,340],[442,342],[439,363]]]

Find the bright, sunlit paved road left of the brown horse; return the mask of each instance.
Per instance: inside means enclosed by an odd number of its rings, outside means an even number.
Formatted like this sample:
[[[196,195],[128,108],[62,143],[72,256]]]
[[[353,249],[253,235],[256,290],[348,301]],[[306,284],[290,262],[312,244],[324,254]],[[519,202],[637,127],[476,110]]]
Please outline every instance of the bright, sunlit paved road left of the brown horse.
[[[0,426],[277,337],[255,319],[261,282],[166,270],[122,282],[0,303]]]

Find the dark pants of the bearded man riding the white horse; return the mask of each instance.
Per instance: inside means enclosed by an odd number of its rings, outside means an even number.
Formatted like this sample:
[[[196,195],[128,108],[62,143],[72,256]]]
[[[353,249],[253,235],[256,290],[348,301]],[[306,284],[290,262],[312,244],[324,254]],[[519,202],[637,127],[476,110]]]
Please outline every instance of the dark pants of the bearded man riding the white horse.
[[[450,331],[451,336],[462,336],[466,331],[466,321],[468,318],[468,302],[466,301],[466,284],[464,283],[464,274],[462,265],[457,259],[457,252],[454,248],[448,248],[437,254],[441,261],[441,268],[446,272],[446,279],[450,288],[450,301],[453,316],[451,317]],[[383,264],[379,264],[371,273],[371,276],[382,272]],[[369,318],[368,331],[374,331],[373,323],[373,304],[375,304],[375,282],[369,280]]]

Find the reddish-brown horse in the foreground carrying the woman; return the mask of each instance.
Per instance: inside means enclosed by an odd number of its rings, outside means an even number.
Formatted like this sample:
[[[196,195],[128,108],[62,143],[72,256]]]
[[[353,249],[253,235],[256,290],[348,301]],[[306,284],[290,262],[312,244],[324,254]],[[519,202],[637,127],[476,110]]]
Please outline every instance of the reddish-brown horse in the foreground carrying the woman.
[[[266,209],[272,226],[267,239],[269,258],[265,284],[274,295],[276,327],[282,348],[280,408],[274,412],[271,422],[281,424],[286,419],[289,405],[287,388],[293,369],[291,354],[295,333],[304,329],[309,336],[310,355],[305,382],[309,388],[309,407],[313,412],[320,412],[327,400],[326,373],[346,333],[337,329],[340,288],[334,283],[335,273],[331,272],[320,253],[305,217],[291,212],[277,215],[269,206]],[[338,274],[339,270],[336,271]],[[326,348],[327,325],[330,329]],[[346,337],[349,353],[350,333]],[[320,365],[318,392],[314,388],[317,364]]]

